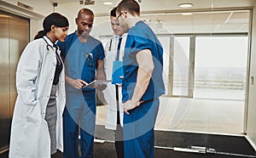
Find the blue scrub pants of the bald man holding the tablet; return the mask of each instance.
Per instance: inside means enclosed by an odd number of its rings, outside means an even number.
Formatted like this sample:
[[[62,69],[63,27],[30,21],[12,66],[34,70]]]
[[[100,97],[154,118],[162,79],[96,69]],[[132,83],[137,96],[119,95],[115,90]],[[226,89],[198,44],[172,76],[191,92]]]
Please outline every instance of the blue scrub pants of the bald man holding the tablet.
[[[96,123],[96,92],[67,93],[63,112],[64,158],[93,157]]]

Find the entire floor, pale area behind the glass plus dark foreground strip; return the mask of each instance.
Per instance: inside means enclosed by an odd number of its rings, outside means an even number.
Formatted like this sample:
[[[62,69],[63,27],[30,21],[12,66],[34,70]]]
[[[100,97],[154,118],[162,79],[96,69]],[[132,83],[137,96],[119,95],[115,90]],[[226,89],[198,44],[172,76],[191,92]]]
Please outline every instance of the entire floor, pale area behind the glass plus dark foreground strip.
[[[107,108],[106,105],[97,106],[96,138],[113,140],[113,132],[106,130],[103,126]],[[154,157],[239,158],[245,157],[244,155],[256,157],[242,134],[243,111],[244,101],[242,100],[161,97],[155,126],[157,131],[155,145],[169,149],[156,148]],[[190,148],[191,145],[218,149],[220,154],[206,153],[202,155],[173,150],[173,147]],[[228,146],[234,147],[234,149],[223,150]],[[225,153],[235,153],[236,155],[225,155]],[[5,153],[0,155],[0,158],[2,157],[7,158],[8,155]],[[54,158],[61,157],[61,152],[54,156]],[[113,143],[96,143],[95,157],[116,157]]]

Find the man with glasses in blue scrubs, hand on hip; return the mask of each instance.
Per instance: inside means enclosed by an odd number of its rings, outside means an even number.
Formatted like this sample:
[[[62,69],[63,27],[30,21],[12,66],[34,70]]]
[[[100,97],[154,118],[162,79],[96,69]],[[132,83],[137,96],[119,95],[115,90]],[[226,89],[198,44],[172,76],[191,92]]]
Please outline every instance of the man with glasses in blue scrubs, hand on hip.
[[[154,123],[159,97],[165,93],[162,78],[163,48],[140,17],[135,0],[121,1],[116,11],[119,24],[128,31],[125,43],[124,103],[125,157],[154,157]]]

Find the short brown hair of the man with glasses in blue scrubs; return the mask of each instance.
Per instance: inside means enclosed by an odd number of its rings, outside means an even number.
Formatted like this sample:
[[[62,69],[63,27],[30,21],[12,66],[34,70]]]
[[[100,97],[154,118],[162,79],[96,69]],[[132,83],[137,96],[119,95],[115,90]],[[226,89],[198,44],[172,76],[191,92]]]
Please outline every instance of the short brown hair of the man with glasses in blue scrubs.
[[[128,11],[134,16],[140,16],[140,5],[135,0],[122,0],[117,6],[117,11]]]

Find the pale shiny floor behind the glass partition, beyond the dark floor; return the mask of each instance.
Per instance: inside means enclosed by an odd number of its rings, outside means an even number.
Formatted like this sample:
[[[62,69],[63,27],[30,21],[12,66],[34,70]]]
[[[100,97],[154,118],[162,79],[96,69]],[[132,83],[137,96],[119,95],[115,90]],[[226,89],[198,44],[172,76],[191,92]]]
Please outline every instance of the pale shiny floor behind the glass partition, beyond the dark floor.
[[[96,124],[104,125],[108,106],[97,107]],[[160,98],[156,129],[195,133],[242,134],[244,101]]]

